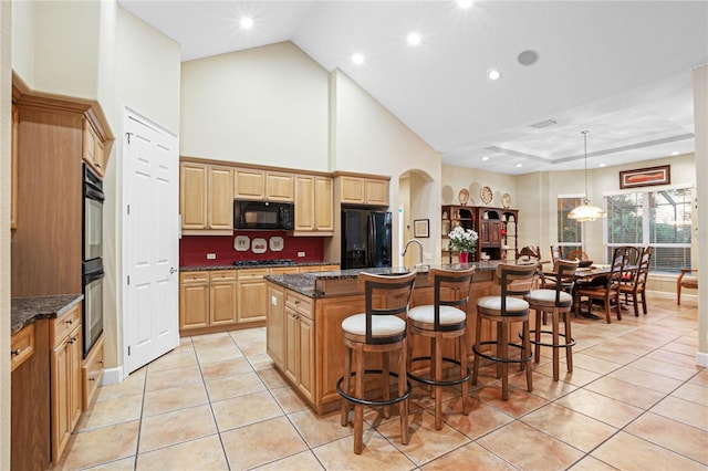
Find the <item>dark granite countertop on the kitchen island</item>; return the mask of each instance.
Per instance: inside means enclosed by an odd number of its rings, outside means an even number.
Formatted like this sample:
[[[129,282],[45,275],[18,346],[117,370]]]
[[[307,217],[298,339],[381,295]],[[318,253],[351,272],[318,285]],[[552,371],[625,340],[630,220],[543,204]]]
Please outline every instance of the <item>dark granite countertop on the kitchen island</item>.
[[[466,269],[473,266],[476,271],[494,271],[497,266],[502,263],[500,260],[490,260],[486,262],[475,262],[469,264],[439,264],[439,265],[421,265],[418,266],[419,273],[427,273],[431,268],[439,269]],[[506,262],[508,264],[516,264],[514,262]],[[413,269],[406,266],[393,266],[393,268],[378,268],[378,269],[350,269],[350,270],[334,270],[329,272],[315,272],[315,273],[300,273],[300,274],[283,274],[283,275],[269,275],[266,280],[272,283],[279,284],[288,290],[292,290],[296,293],[303,294],[308,297],[324,297],[325,293],[317,290],[317,285],[322,281],[327,280],[351,280],[356,279],[360,272],[377,273],[377,274],[404,274],[409,273]]]

